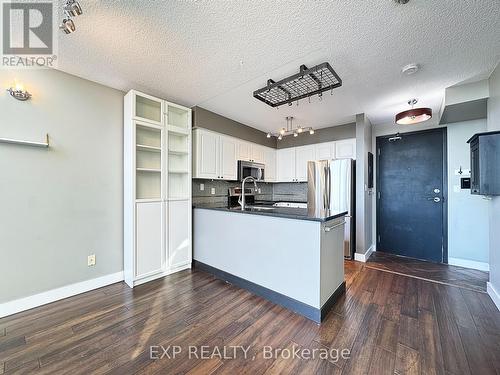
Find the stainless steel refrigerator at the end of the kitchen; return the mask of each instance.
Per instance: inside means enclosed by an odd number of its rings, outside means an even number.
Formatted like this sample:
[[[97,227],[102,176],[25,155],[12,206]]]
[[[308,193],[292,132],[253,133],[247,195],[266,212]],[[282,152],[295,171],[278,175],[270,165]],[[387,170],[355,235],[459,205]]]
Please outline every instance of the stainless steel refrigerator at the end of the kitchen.
[[[307,165],[307,210],[310,215],[325,210],[347,211],[344,256],[355,251],[356,162],[353,159],[310,161]]]

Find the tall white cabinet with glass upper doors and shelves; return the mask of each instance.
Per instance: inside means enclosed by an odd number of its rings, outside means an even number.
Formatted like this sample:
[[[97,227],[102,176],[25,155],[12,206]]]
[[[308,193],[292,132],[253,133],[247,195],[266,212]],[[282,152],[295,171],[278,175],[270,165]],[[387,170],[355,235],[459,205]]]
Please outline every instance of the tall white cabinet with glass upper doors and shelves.
[[[191,109],[131,90],[124,99],[124,278],[190,268]]]

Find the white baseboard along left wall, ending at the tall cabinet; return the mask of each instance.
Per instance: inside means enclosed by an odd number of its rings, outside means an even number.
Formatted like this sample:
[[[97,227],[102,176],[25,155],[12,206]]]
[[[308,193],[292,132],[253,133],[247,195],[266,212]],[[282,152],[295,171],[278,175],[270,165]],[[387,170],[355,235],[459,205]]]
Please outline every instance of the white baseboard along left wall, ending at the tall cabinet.
[[[0,318],[123,281],[123,271],[0,304]]]

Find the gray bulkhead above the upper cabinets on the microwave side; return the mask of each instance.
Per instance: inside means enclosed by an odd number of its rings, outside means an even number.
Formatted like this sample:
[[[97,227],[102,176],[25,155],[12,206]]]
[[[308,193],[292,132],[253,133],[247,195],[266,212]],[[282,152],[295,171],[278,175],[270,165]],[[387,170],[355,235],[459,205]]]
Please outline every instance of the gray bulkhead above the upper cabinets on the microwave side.
[[[210,112],[201,107],[193,107],[193,127],[213,130],[245,141],[276,148],[276,138],[267,138],[266,133]]]

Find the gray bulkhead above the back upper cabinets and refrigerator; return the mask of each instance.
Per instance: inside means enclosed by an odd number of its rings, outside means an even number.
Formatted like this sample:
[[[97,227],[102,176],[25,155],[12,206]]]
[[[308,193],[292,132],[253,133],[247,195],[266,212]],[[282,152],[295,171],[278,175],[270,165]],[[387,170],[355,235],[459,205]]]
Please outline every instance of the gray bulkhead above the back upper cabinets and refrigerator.
[[[317,129],[314,134],[302,134],[298,137],[288,136],[277,141],[278,148],[312,145],[315,143],[338,141],[356,137],[356,123]]]

